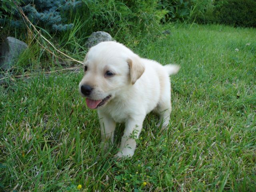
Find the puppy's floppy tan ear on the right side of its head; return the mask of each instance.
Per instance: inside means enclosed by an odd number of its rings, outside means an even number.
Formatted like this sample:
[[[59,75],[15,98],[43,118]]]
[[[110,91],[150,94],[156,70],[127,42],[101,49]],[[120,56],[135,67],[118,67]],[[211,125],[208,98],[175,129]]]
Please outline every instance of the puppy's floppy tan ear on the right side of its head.
[[[133,59],[127,60],[129,66],[130,66],[130,77],[131,82],[134,84],[140,76],[144,73],[145,66],[141,63],[140,58],[134,57]]]

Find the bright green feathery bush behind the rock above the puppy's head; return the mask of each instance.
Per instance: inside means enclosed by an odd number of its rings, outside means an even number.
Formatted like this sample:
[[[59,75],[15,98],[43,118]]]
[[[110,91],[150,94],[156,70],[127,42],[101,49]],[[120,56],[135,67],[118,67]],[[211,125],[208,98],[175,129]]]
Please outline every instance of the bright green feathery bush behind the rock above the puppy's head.
[[[76,43],[84,45],[92,32],[105,31],[115,40],[136,41],[141,36],[159,32],[160,20],[166,14],[158,9],[158,0],[94,0],[82,1],[80,10],[73,16]],[[66,44],[69,34],[64,34]],[[151,36],[151,37],[152,37]]]

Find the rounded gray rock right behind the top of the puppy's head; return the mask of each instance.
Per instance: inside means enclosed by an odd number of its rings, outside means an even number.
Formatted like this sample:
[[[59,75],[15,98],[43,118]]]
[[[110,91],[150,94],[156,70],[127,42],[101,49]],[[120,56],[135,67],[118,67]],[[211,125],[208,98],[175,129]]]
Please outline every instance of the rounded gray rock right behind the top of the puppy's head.
[[[103,42],[103,41],[112,41],[112,37],[110,34],[108,34],[107,32],[104,31],[97,31],[97,32],[93,32],[90,37],[88,38],[88,40],[85,43],[85,46],[89,49],[92,46]]]

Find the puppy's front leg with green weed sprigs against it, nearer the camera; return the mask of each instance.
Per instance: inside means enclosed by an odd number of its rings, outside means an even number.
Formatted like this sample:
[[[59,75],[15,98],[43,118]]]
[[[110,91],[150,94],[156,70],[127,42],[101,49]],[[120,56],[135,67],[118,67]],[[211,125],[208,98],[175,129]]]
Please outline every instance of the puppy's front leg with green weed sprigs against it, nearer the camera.
[[[145,116],[141,118],[128,119],[125,124],[124,135],[122,136],[120,144],[120,152],[116,154],[116,157],[132,157],[136,149],[135,138],[140,136],[142,130],[142,124]]]

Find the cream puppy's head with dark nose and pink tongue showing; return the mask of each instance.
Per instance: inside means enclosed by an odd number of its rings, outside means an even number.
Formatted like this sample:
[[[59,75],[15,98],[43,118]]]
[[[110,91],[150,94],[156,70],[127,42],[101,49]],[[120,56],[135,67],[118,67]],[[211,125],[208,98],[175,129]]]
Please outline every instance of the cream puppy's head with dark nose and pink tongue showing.
[[[140,78],[140,57],[117,42],[101,42],[88,51],[79,92],[91,109],[106,106]]]

